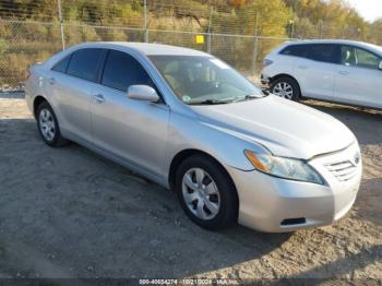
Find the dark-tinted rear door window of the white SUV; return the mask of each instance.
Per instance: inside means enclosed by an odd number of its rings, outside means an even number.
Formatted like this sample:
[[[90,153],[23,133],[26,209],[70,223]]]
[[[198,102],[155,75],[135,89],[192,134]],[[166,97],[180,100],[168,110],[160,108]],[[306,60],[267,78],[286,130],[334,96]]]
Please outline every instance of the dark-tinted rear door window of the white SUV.
[[[332,44],[307,45],[306,57],[308,59],[327,63],[339,63],[339,46]]]

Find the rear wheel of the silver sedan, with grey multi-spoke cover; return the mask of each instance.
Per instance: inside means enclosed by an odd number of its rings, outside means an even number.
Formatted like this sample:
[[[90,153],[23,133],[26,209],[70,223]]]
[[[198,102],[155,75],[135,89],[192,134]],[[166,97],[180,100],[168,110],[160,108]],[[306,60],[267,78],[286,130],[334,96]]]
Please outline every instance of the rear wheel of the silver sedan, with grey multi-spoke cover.
[[[46,144],[59,147],[69,143],[60,132],[59,123],[53,109],[48,102],[43,102],[36,112],[38,132]]]

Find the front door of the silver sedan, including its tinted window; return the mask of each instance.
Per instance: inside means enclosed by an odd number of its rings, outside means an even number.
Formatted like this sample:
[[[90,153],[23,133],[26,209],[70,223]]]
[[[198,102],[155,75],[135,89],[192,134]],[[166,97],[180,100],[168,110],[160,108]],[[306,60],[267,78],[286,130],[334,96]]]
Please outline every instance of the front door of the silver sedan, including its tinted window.
[[[94,143],[126,163],[160,176],[170,109],[160,102],[128,98],[128,87],[135,84],[155,88],[136,59],[109,50],[91,107]]]

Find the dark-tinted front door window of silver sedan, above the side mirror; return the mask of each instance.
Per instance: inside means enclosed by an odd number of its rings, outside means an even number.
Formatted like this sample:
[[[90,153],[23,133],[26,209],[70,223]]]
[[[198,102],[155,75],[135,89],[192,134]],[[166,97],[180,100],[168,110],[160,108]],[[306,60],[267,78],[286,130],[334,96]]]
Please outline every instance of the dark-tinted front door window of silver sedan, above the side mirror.
[[[109,50],[106,58],[102,84],[127,92],[130,85],[142,84],[155,88],[142,64],[130,55]]]

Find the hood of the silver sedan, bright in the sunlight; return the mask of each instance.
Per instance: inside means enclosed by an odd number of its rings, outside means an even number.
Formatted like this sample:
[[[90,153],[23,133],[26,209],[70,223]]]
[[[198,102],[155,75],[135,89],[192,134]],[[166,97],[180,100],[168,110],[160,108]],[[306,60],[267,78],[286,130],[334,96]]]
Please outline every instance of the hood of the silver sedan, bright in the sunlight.
[[[309,159],[355,141],[351,131],[333,117],[274,95],[191,108],[203,123],[260,143],[277,156]]]

